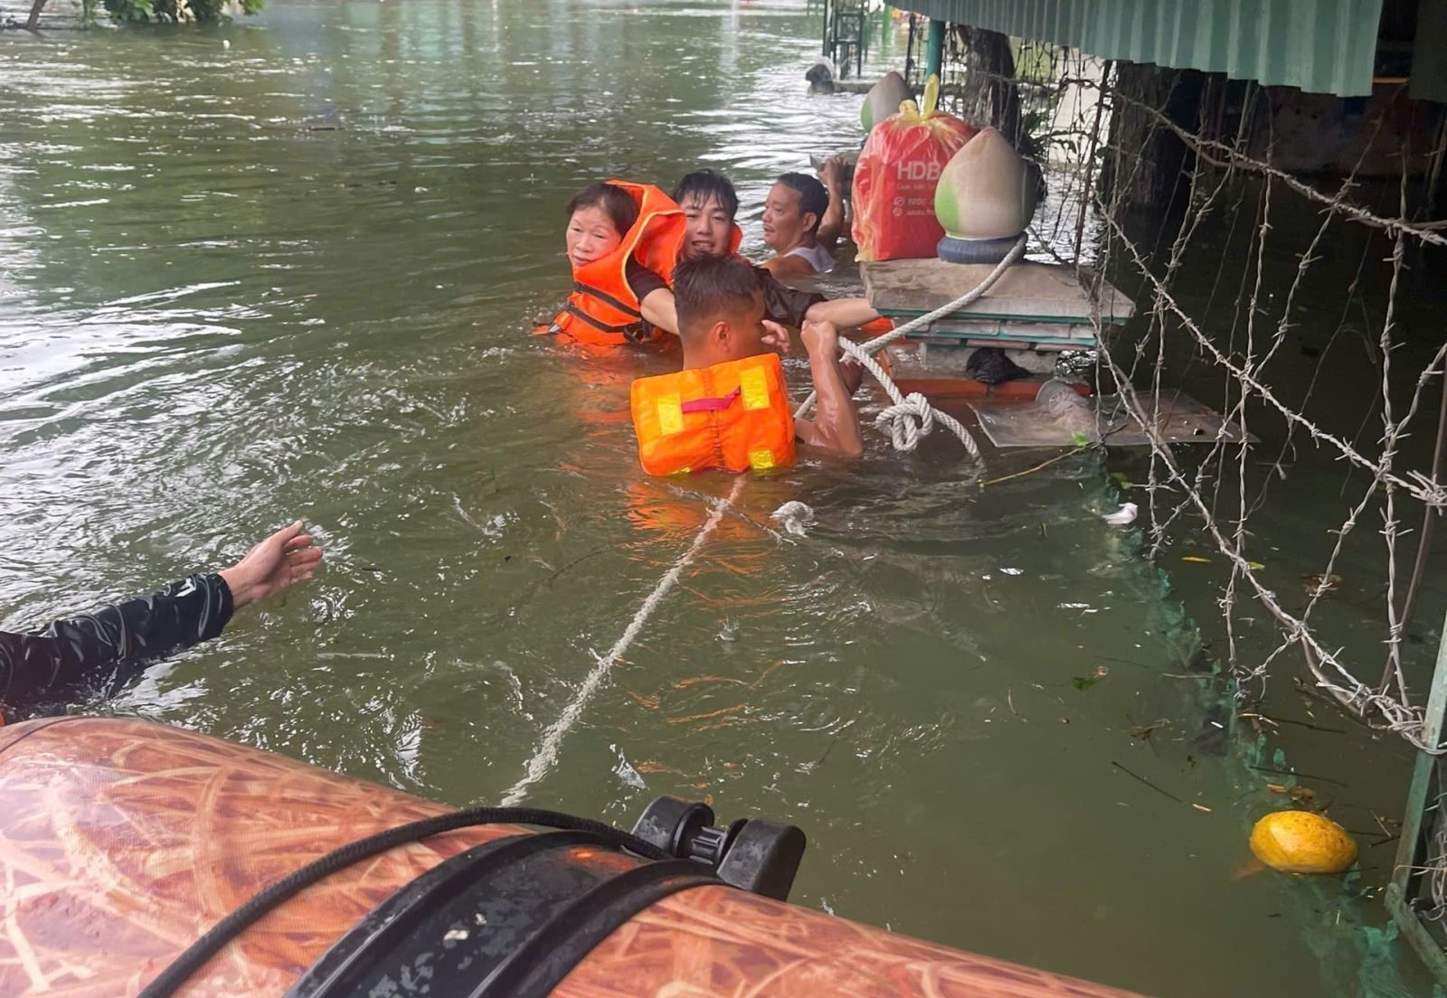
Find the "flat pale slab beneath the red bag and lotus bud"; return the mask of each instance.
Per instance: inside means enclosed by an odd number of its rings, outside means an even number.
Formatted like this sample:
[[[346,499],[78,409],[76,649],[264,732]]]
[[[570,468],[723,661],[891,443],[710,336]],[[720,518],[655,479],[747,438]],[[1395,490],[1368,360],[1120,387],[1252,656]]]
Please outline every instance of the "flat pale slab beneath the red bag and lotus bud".
[[[990,263],[886,260],[861,263],[864,294],[883,315],[915,318],[948,305],[980,285],[994,269]],[[912,334],[912,338],[956,343],[1072,350],[1095,346],[1094,310],[1100,321],[1119,325],[1134,302],[1113,285],[1101,285],[1092,304],[1075,269],[1058,263],[1014,263],[980,299]]]

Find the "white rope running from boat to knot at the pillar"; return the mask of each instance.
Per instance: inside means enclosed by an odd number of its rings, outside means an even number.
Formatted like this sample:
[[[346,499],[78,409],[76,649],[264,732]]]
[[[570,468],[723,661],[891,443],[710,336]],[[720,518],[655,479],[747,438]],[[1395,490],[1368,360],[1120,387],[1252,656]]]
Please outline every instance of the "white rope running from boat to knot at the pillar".
[[[1024,253],[1024,236],[1020,236],[1019,242],[1010,249],[1006,257],[996,265],[994,270],[991,270],[985,276],[985,279],[980,282],[978,286],[975,286],[968,294],[961,295],[959,298],[949,302],[943,308],[936,308],[928,315],[920,315],[919,318],[910,320],[909,323],[904,323],[903,325],[896,327],[883,336],[877,336],[873,340],[862,344],[857,344],[848,340],[839,341],[839,347],[846,354],[852,356],[855,360],[864,364],[864,369],[868,370],[871,375],[874,375],[874,379],[880,382],[886,393],[888,393],[890,399],[894,402],[894,405],[880,412],[880,415],[875,417],[874,422],[881,427],[886,424],[888,425],[890,438],[894,443],[896,450],[900,451],[915,450],[915,447],[919,445],[920,437],[929,435],[930,430],[933,430],[935,421],[939,421],[951,432],[959,437],[959,443],[965,445],[965,450],[969,451],[971,457],[974,459],[980,457],[980,447],[969,435],[969,431],[965,430],[965,427],[961,425],[958,419],[955,419],[946,412],[941,412],[939,409],[932,408],[929,405],[929,401],[917,392],[910,393],[909,396],[901,395],[900,389],[894,385],[890,376],[884,373],[884,370],[880,367],[880,364],[874,360],[871,354],[880,350],[881,347],[894,343],[896,340],[910,333],[912,330],[916,330],[928,323],[933,323],[936,318],[942,318],[945,315],[949,315],[951,312],[959,311],[969,302],[980,298],[980,295],[990,291],[990,286],[1000,279],[1000,275],[1004,273],[1007,266],[1020,259],[1022,253]],[[813,406],[813,402],[815,402],[815,395],[810,393],[809,398],[805,399],[803,405],[800,405],[799,409],[794,412],[794,415],[800,417],[805,412],[807,412],[810,406]],[[673,592],[673,587],[679,584],[679,579],[683,577],[683,570],[693,563],[693,558],[696,558],[699,551],[703,548],[703,542],[709,538],[709,534],[712,534],[713,529],[719,525],[719,521],[724,519],[724,515],[729,509],[732,509],[734,503],[738,500],[739,493],[744,490],[744,483],[748,479],[745,476],[742,474],[738,476],[738,479],[734,482],[734,487],[728,493],[728,498],[713,506],[713,512],[709,513],[709,518],[708,521],[705,521],[703,528],[699,531],[697,537],[693,538],[693,544],[690,544],[689,548],[682,555],[679,555],[679,560],[673,563],[673,567],[669,568],[669,571],[664,573],[663,579],[658,580],[658,584],[653,587],[653,592],[648,593],[648,596],[644,599],[642,605],[638,607],[638,612],[634,613],[632,620],[629,620],[628,626],[624,629],[622,636],[618,638],[618,641],[608,651],[608,654],[599,655],[598,652],[593,652],[593,658],[596,660],[596,662],[593,664],[592,671],[583,678],[583,683],[577,687],[577,693],[573,696],[572,701],[569,701],[569,704],[563,709],[563,713],[559,715],[559,719],[554,720],[546,732],[543,732],[543,741],[538,742],[537,751],[528,759],[527,772],[521,780],[518,780],[518,782],[512,784],[512,788],[508,790],[506,794],[502,796],[501,803],[504,807],[511,807],[514,804],[521,803],[522,798],[527,797],[528,794],[528,787],[531,787],[538,780],[546,777],[548,771],[551,771],[553,767],[557,765],[557,754],[563,745],[563,739],[567,738],[567,733],[573,730],[573,728],[577,725],[577,720],[583,716],[583,709],[587,706],[587,701],[592,700],[593,694],[598,693],[599,687],[603,684],[603,680],[606,680],[608,674],[614,670],[614,665],[616,665],[622,660],[622,657],[628,652],[628,648],[638,638],[640,632],[642,632],[642,628],[648,622],[648,618],[653,616],[653,612],[655,609],[658,609],[658,603],[661,603],[664,597],[670,592]],[[780,506],[777,512],[783,512],[789,505],[790,503]],[[794,532],[793,528],[789,529],[790,532]],[[797,532],[803,532],[803,529],[799,528]]]

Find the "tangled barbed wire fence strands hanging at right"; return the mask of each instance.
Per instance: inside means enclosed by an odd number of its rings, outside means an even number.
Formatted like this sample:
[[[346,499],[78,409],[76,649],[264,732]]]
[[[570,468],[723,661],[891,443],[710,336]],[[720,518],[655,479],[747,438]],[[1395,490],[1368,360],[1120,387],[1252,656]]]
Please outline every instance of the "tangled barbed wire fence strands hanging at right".
[[[1123,396],[1126,411],[1140,424],[1150,443],[1150,476],[1146,483],[1149,503],[1149,547],[1158,557],[1169,542],[1169,531],[1184,515],[1200,521],[1207,538],[1214,544],[1230,567],[1230,577],[1220,597],[1223,623],[1227,634],[1227,665],[1237,680],[1236,696],[1242,703],[1259,699],[1282,655],[1292,648],[1302,652],[1302,661],[1311,677],[1312,688],[1330,696],[1375,728],[1395,732],[1418,749],[1440,754],[1447,749],[1427,745],[1422,738],[1424,697],[1408,681],[1404,661],[1404,629],[1415,609],[1417,594],[1425,571],[1425,557],[1430,547],[1431,525],[1444,505],[1447,487],[1441,480],[1438,445],[1434,453],[1438,460],[1428,473],[1424,469],[1405,467],[1399,460],[1402,440],[1418,424],[1430,408],[1430,392],[1441,391],[1443,362],[1447,359],[1447,341],[1431,357],[1430,363],[1415,372],[1411,398],[1405,406],[1393,405],[1393,351],[1399,346],[1401,331],[1398,301],[1408,247],[1447,244],[1447,236],[1438,227],[1417,223],[1408,217],[1406,174],[1401,184],[1399,213],[1383,216],[1369,205],[1353,200],[1359,188],[1357,169],[1337,184],[1334,189],[1323,191],[1273,166],[1268,158],[1247,152],[1253,136],[1266,130],[1265,146],[1269,153],[1273,140],[1269,135],[1270,117],[1260,114],[1260,88],[1246,84],[1242,100],[1243,113],[1234,135],[1213,135],[1213,121],[1207,120],[1218,110],[1213,88],[1223,88],[1224,81],[1207,80],[1205,93],[1200,100],[1200,120],[1195,129],[1181,124],[1165,111],[1171,103],[1171,88],[1153,95],[1137,95],[1120,85],[1117,68],[1091,56],[1049,45],[1026,45],[1014,54],[1017,67],[1010,72],[994,72],[980,46],[968,40],[968,29],[955,29],[946,49],[946,72],[943,93],[955,101],[964,117],[981,121],[981,106],[994,116],[1017,116],[1022,145],[1032,149],[1042,161],[1048,161],[1051,194],[1037,211],[1032,226],[1035,242],[1032,252],[1059,262],[1079,266],[1087,288],[1097,288],[1107,270],[1124,270],[1133,275],[1143,289],[1137,299],[1139,323],[1145,328],[1134,337],[1133,351],[1121,357],[1119,350],[1103,349],[1097,363],[1101,367],[1103,383],[1110,383]],[[985,82],[980,82],[980,78]],[[971,78],[975,82],[971,84]],[[1000,88],[1013,87],[1019,94],[1016,106],[1001,98]],[[984,98],[981,98],[984,94]],[[1134,148],[1120,148],[1113,135],[1130,133],[1139,137],[1140,129],[1113,129],[1113,119],[1134,119],[1145,124],[1145,137]],[[1127,121],[1129,123],[1129,121]],[[1217,121],[1218,124],[1218,121]],[[1013,127],[1009,121],[1006,127]],[[1001,130],[1006,130],[1001,127]],[[1380,121],[1378,121],[1378,130]],[[1143,246],[1133,237],[1126,223],[1126,197],[1137,182],[1143,169],[1150,168],[1143,149],[1150,148],[1158,133],[1178,139],[1191,153],[1191,165],[1172,178],[1171,200],[1185,204],[1179,221],[1165,223],[1158,230],[1158,243],[1166,243],[1168,229],[1174,236],[1166,244]],[[1373,135],[1375,139],[1375,135]],[[1370,148],[1363,146],[1362,156]],[[1440,150],[1438,150],[1440,155]],[[1360,166],[1360,158],[1357,168]],[[1106,175],[1103,178],[1103,174]],[[1243,194],[1240,181],[1253,178],[1255,204],[1249,192]],[[1234,198],[1231,226],[1240,224],[1240,214],[1249,211],[1255,227],[1253,253],[1242,268],[1239,288],[1231,312],[1227,341],[1221,343],[1220,331],[1204,321],[1200,314],[1182,304],[1174,292],[1176,278],[1188,265],[1188,253],[1194,249],[1202,226],[1227,211],[1226,202]],[[1265,297],[1268,294],[1263,262],[1273,231],[1273,211],[1281,211],[1283,198],[1304,198],[1314,207],[1320,205],[1320,224],[1311,240],[1301,247],[1295,276],[1286,291],[1279,315],[1268,320]],[[1160,205],[1165,214],[1165,205]],[[1286,205],[1299,211],[1299,205]],[[1304,409],[1311,393],[1299,399],[1273,385],[1268,366],[1278,357],[1286,343],[1288,333],[1298,321],[1298,305],[1308,275],[1320,260],[1320,247],[1334,227],[1356,224],[1380,233],[1391,243],[1391,285],[1386,295],[1385,318],[1379,323],[1375,337],[1376,357],[1380,367],[1380,386],[1376,399],[1376,417],[1380,435],[1372,445],[1363,445],[1356,438],[1323,428]],[[1094,239],[1091,239],[1091,231]],[[1365,266],[1363,260],[1363,266]],[[1227,276],[1227,260],[1218,262],[1217,285]],[[1362,268],[1357,270],[1359,276]],[[1213,295],[1217,288],[1213,288]],[[1207,310],[1215,302],[1208,302]],[[1347,295],[1344,307],[1351,304]],[[1200,311],[1200,310],[1197,310]],[[1097,336],[1110,343],[1111,333],[1098,323]],[[1195,363],[1213,366],[1227,385],[1221,409],[1229,422],[1236,422],[1243,432],[1239,440],[1229,440],[1223,431],[1205,445],[1205,453],[1195,453],[1185,460],[1179,447],[1166,443],[1158,430],[1160,402],[1159,391],[1169,382],[1172,372],[1166,363],[1166,341],[1169,336],[1185,336],[1194,350]],[[1318,372],[1320,373],[1320,372]],[[1147,395],[1137,386],[1149,385]],[[1214,401],[1214,399],[1213,399]],[[1441,408],[1447,415],[1447,406]],[[1283,425],[1285,438],[1276,459],[1266,461],[1266,472],[1255,472],[1253,447],[1249,434],[1250,422],[1275,418]],[[1262,577],[1259,563],[1249,557],[1252,538],[1250,518],[1266,500],[1272,479],[1282,474],[1282,463],[1288,453],[1301,444],[1331,453],[1337,460],[1366,473],[1366,485],[1359,498],[1349,506],[1346,518],[1334,528],[1334,542],[1325,554],[1325,563],[1315,579],[1318,583],[1307,593],[1304,609],[1292,612]],[[1192,444],[1201,448],[1201,444]],[[1231,463],[1234,473],[1227,474]],[[1253,477],[1260,479],[1253,482]],[[1234,482],[1234,496],[1221,495]],[[1406,586],[1399,584],[1402,567],[1401,548],[1408,532],[1402,522],[1402,508],[1412,502],[1422,509],[1421,541],[1415,557],[1408,563],[1412,568]],[[1382,642],[1386,647],[1385,665],[1370,670],[1349,661],[1341,648],[1330,645],[1314,626],[1324,596],[1333,592],[1334,568],[1343,554],[1344,544],[1363,528],[1369,516],[1380,519],[1379,532],[1385,544],[1386,579],[1383,597]],[[1255,600],[1279,628],[1279,642],[1268,654],[1252,658],[1237,642],[1237,616],[1246,600]]]

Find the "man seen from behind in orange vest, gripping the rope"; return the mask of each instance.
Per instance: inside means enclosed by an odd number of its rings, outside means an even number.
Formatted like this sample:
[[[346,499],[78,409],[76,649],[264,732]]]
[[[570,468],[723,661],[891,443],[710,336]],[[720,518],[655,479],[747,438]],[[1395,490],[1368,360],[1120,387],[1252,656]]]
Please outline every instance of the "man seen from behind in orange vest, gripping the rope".
[[[819,408],[813,419],[794,419],[783,366],[770,349],[787,349],[787,337],[764,318],[754,268],[734,256],[686,259],[674,270],[673,295],[683,370],[640,378],[632,386],[645,472],[781,467],[793,463],[796,438],[845,457],[862,453],[860,417],[839,369],[839,333],[832,323],[805,321]]]

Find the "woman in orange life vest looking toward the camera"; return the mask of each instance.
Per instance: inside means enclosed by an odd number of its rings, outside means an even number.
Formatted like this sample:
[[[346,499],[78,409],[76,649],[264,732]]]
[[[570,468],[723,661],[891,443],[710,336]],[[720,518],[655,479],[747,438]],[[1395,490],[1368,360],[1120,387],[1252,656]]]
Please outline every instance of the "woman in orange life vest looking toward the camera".
[[[679,207],[655,187],[609,181],[574,194],[567,216],[573,292],[538,331],[595,346],[647,343],[674,331],[667,275],[683,250]]]

